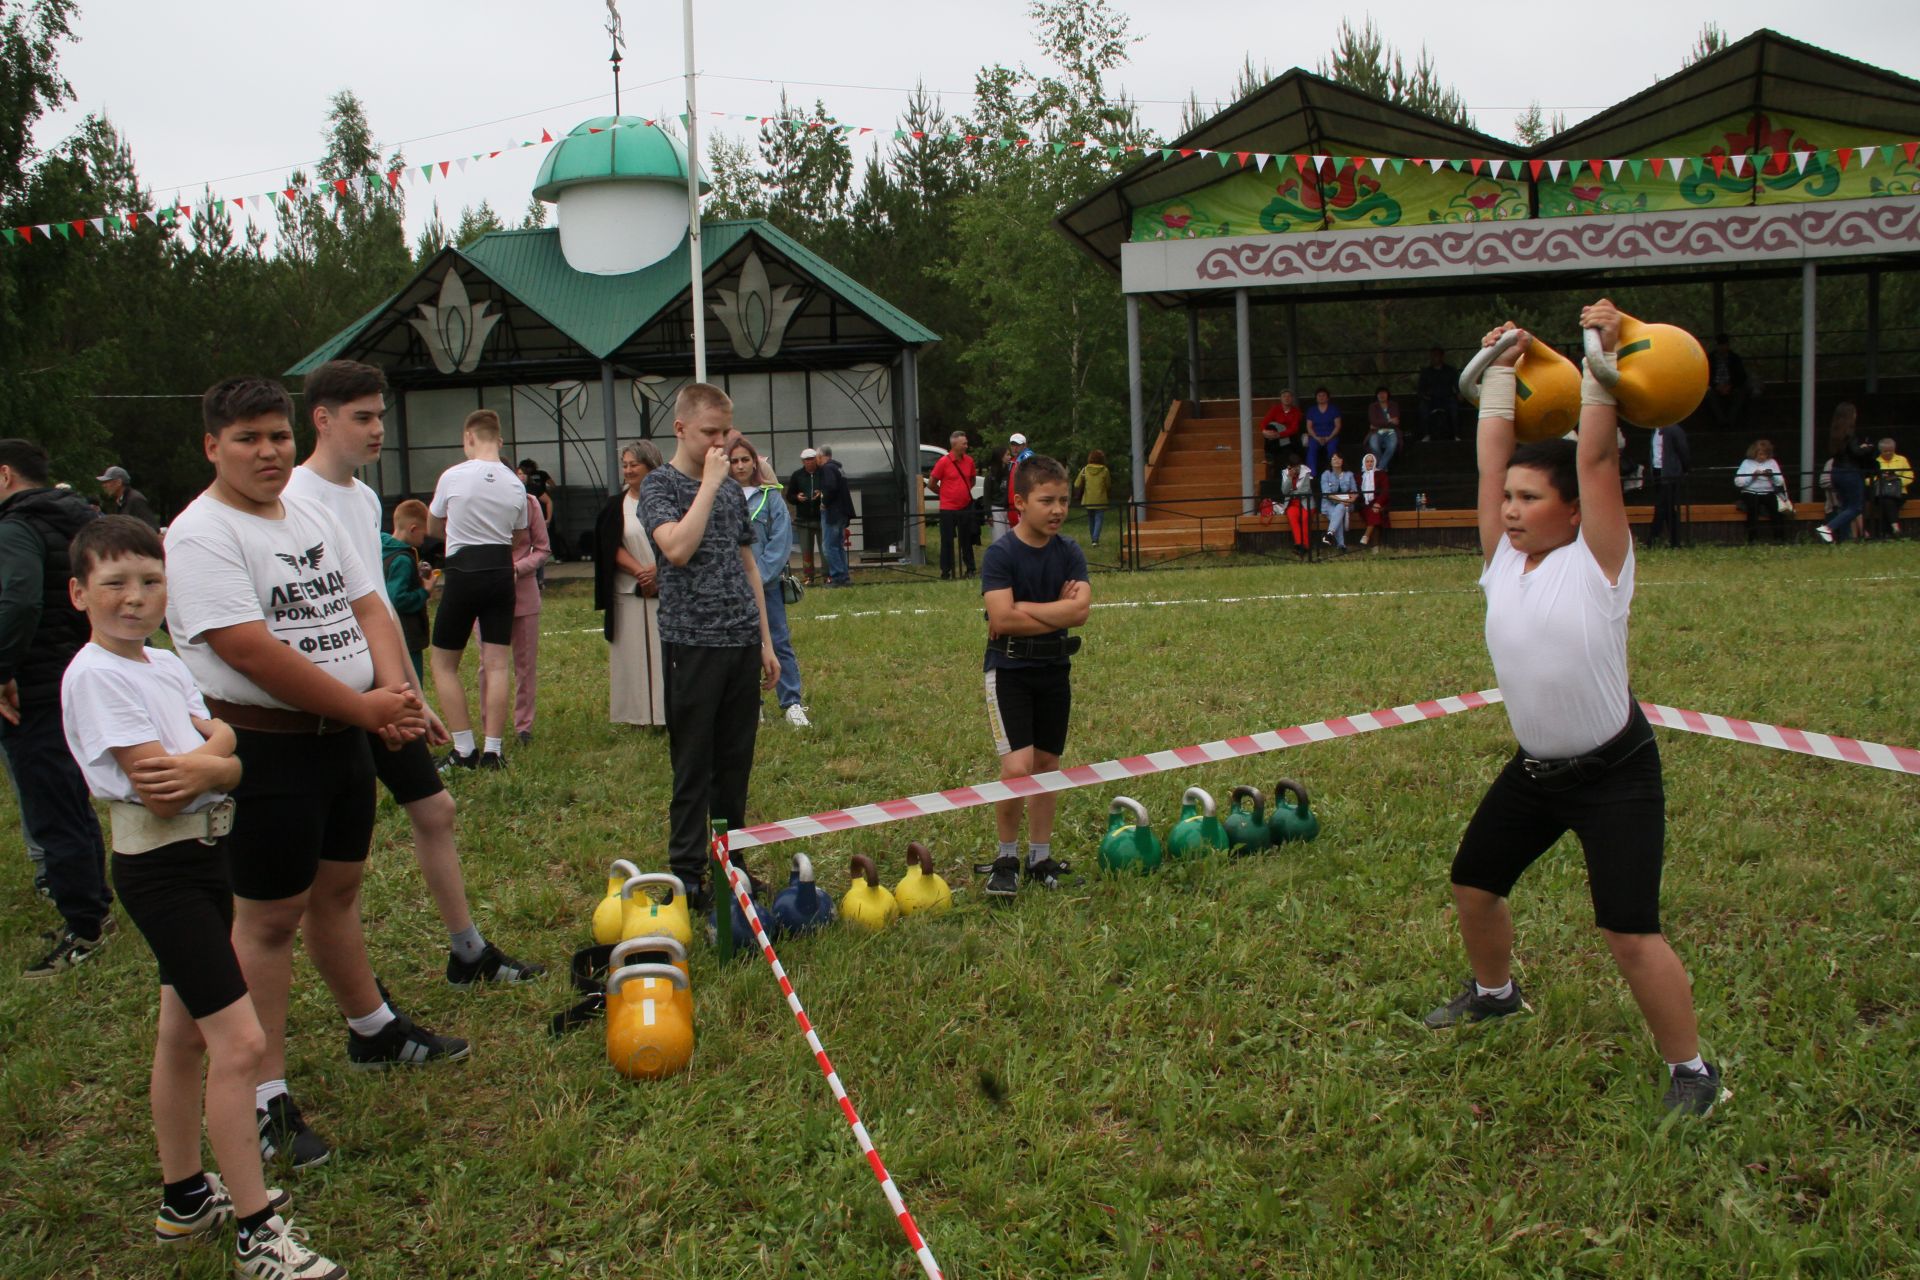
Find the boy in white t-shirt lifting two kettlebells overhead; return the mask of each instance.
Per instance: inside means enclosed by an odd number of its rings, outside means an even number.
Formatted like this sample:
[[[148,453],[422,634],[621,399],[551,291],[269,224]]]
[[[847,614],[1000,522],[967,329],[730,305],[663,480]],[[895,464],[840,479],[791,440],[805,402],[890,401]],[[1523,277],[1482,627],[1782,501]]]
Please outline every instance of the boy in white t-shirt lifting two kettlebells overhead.
[[[1620,313],[1580,311],[1611,365]],[[1490,332],[1494,345],[1513,322]],[[1513,447],[1515,370],[1526,344],[1496,359],[1480,386],[1480,553],[1486,649],[1519,750],[1494,779],[1453,858],[1453,904],[1473,975],[1427,1015],[1432,1029],[1528,1007],[1513,981],[1521,873],[1569,829],[1586,852],[1594,923],[1667,1059],[1668,1111],[1707,1115],[1720,1071],[1699,1054],[1693,990],[1661,933],[1667,798],[1661,756],[1626,683],[1634,539],[1620,493],[1619,415],[1586,372],[1580,443]]]

